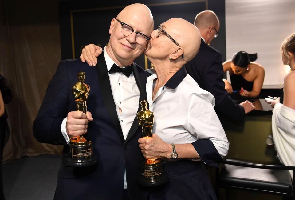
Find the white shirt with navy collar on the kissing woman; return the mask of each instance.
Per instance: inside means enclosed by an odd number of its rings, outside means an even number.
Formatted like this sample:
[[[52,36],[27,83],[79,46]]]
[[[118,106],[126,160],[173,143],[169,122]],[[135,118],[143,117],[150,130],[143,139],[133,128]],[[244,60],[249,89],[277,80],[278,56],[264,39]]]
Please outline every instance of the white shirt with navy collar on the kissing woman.
[[[159,89],[153,101],[158,77],[154,69],[148,72],[154,72],[147,78],[149,110],[154,112],[153,133],[175,144],[209,139],[218,153],[226,156],[229,142],[213,108],[214,96],[201,89],[183,67]]]

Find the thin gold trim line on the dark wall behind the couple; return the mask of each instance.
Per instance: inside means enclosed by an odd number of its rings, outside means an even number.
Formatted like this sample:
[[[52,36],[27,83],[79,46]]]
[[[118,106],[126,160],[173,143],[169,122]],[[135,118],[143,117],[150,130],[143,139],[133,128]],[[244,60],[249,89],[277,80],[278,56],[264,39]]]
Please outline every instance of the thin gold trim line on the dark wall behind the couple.
[[[191,0],[191,1],[177,1],[177,2],[165,2],[165,3],[151,3],[145,4],[146,6],[165,6],[165,5],[177,5],[177,4],[187,4],[187,3],[197,3],[205,2],[206,10],[208,10],[208,0]],[[103,7],[103,8],[91,8],[91,9],[78,9],[70,11],[70,21],[71,21],[71,37],[72,37],[72,53],[73,59],[75,59],[75,40],[74,40],[74,25],[73,25],[73,13],[85,12],[85,11],[96,11],[96,10],[111,10],[117,8],[125,8],[125,6],[113,6],[113,7]],[[148,58],[144,56],[145,69],[148,69]]]

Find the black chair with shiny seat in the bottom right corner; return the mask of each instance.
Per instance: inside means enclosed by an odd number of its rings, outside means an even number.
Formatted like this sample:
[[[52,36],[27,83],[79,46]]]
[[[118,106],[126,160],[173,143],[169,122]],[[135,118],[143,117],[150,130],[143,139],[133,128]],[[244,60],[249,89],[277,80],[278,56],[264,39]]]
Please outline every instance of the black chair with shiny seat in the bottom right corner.
[[[292,183],[289,170],[295,166],[265,165],[249,163],[249,161],[227,158],[222,162],[219,174],[216,168],[216,195],[219,187],[247,190],[282,196],[283,199],[295,199],[294,181]],[[228,197],[227,197],[228,198]]]

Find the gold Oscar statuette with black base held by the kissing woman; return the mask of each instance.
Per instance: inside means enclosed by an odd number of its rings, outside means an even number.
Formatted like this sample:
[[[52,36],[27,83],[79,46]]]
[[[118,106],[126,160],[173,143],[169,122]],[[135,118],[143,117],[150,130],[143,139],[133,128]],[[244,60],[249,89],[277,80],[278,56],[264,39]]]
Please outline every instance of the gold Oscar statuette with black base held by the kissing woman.
[[[143,138],[152,138],[151,127],[154,124],[154,113],[147,109],[147,102],[140,102],[142,110],[137,114],[137,120],[142,127]],[[143,186],[158,186],[168,181],[167,172],[163,170],[162,161],[157,159],[143,159],[141,162],[141,176],[138,182]]]

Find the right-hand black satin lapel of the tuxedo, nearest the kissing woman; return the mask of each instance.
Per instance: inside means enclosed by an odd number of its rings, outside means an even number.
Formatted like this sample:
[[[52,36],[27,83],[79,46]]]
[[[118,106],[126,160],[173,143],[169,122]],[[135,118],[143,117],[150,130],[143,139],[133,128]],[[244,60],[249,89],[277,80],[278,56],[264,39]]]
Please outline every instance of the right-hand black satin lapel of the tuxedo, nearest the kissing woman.
[[[139,112],[142,108],[141,108],[141,105],[140,105],[140,102],[143,101],[143,100],[146,100],[146,92],[145,92],[145,85],[143,84],[144,81],[142,81],[140,75],[139,75],[139,72],[136,68],[136,66],[134,65],[134,63],[132,64],[133,66],[133,75],[134,75],[134,78],[135,78],[135,82],[136,82],[136,85],[140,91],[140,94],[139,94],[139,103],[138,103],[138,110],[137,112]],[[137,117],[135,116],[134,118],[134,121],[132,123],[132,126],[128,132],[128,135],[127,135],[127,138],[125,140],[125,143],[135,134],[136,130],[138,129],[138,121],[137,121]],[[124,143],[124,144],[125,144]]]

